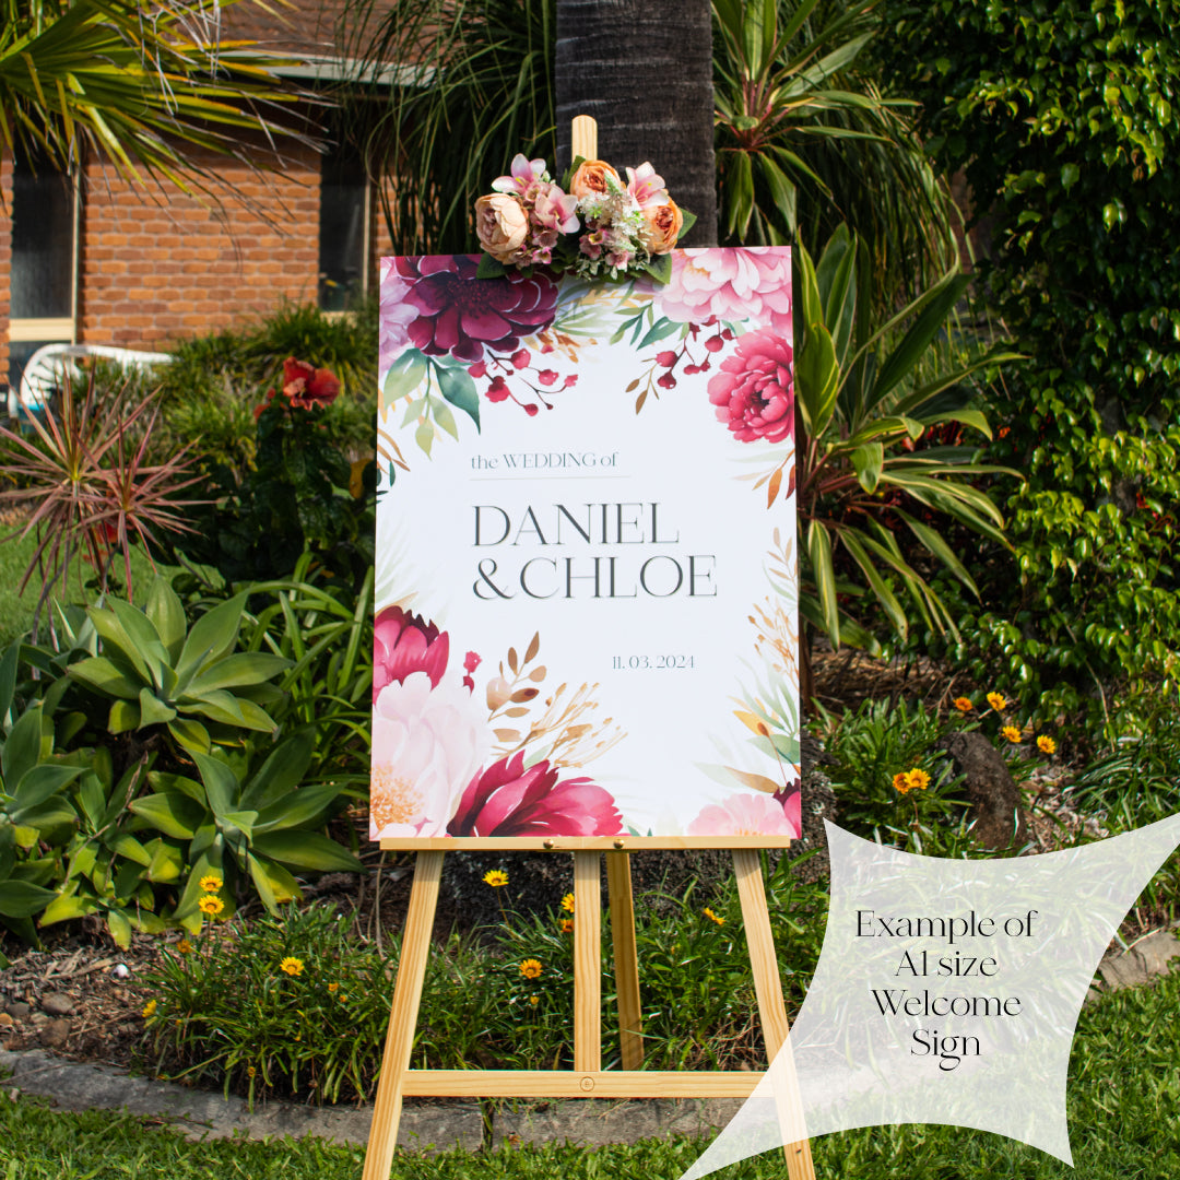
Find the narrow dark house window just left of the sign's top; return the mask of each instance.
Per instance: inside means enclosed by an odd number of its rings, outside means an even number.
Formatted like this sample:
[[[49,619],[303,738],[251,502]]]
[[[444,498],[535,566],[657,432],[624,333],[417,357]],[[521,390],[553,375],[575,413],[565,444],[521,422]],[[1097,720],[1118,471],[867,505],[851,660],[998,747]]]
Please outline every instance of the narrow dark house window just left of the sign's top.
[[[333,149],[320,165],[320,307],[348,312],[365,295],[369,185],[355,150]]]

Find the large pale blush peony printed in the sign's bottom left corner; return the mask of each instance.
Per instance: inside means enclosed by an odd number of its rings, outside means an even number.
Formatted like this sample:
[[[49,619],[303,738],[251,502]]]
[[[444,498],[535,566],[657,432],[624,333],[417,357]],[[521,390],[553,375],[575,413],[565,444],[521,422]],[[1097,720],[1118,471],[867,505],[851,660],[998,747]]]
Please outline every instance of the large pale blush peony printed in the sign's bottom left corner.
[[[425,671],[386,684],[373,706],[369,835],[442,835],[489,747],[486,715],[461,684]]]

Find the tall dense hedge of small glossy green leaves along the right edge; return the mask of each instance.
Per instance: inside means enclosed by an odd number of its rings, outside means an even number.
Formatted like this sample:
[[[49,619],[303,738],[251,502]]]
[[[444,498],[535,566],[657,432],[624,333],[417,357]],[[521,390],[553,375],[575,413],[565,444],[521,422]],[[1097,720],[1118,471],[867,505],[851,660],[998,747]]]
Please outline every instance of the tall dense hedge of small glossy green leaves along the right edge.
[[[1174,702],[1180,650],[1180,5],[938,0],[889,19],[880,48],[927,146],[974,194],[981,287],[1031,358],[992,402],[991,454],[1028,476],[997,489],[1018,577],[964,603],[961,654],[1113,739],[1128,702],[1141,727],[1153,695]]]

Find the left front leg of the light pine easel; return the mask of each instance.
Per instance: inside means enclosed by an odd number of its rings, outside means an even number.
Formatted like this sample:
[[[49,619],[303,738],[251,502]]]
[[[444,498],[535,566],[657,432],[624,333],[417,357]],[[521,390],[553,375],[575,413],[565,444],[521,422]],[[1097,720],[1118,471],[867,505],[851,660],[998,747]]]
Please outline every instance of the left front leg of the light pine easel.
[[[393,1149],[398,1142],[398,1123],[401,1121],[401,1093],[414,1045],[418,1005],[422,998],[426,958],[431,948],[431,930],[434,926],[441,879],[442,853],[419,852],[414,861],[414,884],[409,891],[409,912],[401,939],[398,982],[393,989],[389,1031],[385,1040],[381,1080],[378,1082],[373,1126],[369,1129],[361,1180],[389,1180]]]

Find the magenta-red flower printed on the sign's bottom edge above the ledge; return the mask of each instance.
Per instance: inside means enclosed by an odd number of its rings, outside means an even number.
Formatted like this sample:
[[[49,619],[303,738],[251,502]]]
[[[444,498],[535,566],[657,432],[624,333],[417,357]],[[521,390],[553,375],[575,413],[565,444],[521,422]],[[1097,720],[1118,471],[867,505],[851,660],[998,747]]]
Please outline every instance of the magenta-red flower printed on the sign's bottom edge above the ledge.
[[[557,781],[557,767],[524,768],[524,754],[477,774],[447,825],[448,835],[615,835],[623,818],[590,779]]]

